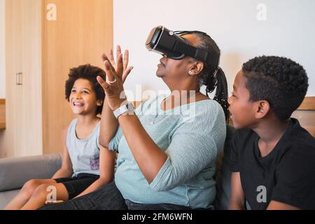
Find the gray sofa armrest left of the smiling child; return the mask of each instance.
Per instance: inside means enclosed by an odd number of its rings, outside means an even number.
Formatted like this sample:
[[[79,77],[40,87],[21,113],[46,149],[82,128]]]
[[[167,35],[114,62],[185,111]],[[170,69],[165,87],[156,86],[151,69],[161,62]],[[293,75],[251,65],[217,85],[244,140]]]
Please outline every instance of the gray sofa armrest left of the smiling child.
[[[50,179],[61,167],[60,153],[0,159],[0,192],[20,189],[30,179]]]

